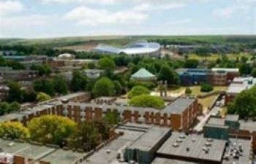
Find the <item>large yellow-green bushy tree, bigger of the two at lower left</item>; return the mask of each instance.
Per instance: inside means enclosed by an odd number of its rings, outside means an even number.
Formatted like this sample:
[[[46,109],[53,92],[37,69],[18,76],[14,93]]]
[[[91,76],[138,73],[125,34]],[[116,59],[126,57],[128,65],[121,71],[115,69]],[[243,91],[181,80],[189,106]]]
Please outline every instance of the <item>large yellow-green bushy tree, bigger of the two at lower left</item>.
[[[75,133],[77,124],[67,117],[47,115],[34,117],[29,122],[28,128],[32,141],[62,145],[65,139]]]

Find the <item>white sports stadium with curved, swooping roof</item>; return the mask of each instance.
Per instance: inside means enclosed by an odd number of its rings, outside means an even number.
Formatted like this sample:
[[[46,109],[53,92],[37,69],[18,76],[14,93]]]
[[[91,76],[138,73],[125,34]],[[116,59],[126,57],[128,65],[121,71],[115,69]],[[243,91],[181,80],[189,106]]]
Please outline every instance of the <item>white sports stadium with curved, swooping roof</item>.
[[[157,42],[147,41],[132,42],[120,48],[106,44],[99,44],[94,48],[94,51],[105,54],[126,54],[140,57],[159,58],[161,55],[161,45]]]

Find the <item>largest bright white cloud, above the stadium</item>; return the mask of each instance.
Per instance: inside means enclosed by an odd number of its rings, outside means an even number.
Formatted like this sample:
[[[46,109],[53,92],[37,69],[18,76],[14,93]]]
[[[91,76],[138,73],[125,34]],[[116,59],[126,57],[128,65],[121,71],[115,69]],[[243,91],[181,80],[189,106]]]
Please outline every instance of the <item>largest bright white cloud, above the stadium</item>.
[[[110,12],[106,9],[91,9],[85,6],[72,9],[64,15],[65,20],[75,20],[78,25],[140,23],[147,17],[148,15],[133,10]]]

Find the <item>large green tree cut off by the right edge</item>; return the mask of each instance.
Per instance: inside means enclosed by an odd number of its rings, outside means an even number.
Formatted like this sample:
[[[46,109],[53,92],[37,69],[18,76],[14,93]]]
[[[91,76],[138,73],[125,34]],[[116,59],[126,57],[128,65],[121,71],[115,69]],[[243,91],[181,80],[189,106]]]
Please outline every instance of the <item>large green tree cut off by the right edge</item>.
[[[239,114],[239,117],[256,117],[256,87],[244,90],[227,104],[228,114]]]

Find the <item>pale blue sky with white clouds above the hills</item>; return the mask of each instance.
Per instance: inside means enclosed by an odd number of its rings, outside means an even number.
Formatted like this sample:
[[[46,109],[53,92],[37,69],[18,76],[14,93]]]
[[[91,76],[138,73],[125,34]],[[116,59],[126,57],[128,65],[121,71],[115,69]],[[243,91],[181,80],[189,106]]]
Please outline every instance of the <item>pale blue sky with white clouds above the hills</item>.
[[[256,0],[0,0],[0,38],[256,34]]]

